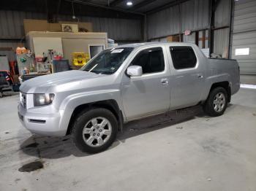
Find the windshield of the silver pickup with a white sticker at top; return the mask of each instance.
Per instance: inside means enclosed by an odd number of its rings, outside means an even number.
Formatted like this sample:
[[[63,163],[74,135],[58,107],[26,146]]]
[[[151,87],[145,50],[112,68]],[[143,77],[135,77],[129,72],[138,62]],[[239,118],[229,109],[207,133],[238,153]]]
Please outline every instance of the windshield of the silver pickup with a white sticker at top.
[[[96,74],[113,74],[132,50],[132,47],[103,50],[80,70],[91,71]]]

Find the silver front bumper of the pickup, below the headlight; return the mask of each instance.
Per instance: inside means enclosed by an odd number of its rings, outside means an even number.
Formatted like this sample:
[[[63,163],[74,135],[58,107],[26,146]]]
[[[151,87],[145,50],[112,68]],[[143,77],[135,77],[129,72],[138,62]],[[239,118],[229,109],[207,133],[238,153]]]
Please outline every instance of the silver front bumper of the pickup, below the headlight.
[[[18,104],[18,117],[22,125],[31,133],[43,136],[65,136],[67,133],[67,128],[61,128],[59,112],[37,112]]]

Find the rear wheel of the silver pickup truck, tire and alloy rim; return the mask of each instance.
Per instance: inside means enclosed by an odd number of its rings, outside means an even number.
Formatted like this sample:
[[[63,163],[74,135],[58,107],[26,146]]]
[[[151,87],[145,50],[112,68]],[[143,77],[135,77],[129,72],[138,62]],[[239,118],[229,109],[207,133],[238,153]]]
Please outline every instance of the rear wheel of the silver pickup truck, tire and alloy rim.
[[[211,117],[222,115],[227,108],[227,90],[223,87],[215,87],[208,95],[203,106],[204,112]]]

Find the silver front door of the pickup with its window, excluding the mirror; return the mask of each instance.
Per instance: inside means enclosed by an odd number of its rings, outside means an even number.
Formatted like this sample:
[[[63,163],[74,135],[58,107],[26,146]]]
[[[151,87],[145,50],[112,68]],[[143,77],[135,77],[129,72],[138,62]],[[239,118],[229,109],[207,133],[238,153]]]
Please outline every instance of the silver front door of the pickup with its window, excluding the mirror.
[[[167,112],[170,106],[170,67],[165,47],[140,50],[130,65],[141,66],[141,77],[124,74],[121,93],[127,120]]]

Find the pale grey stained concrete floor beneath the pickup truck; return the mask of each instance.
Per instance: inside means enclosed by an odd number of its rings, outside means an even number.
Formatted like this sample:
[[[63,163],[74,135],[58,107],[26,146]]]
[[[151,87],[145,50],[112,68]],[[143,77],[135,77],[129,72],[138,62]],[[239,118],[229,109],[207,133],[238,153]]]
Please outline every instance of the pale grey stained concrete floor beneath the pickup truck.
[[[221,117],[195,107],[131,122],[97,155],[31,136],[17,102],[0,98],[0,190],[256,190],[256,90],[242,88]],[[43,168],[18,171],[34,161]]]

